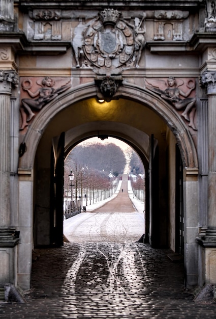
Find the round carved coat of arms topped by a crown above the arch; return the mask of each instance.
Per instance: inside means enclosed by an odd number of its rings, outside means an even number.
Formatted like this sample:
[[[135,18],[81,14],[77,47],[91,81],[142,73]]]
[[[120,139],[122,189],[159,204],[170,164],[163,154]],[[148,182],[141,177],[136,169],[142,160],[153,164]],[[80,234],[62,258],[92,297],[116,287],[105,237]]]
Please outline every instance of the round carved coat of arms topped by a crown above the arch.
[[[81,20],[72,39],[76,67],[87,66],[108,75],[138,67],[145,43],[144,18],[145,14],[131,24],[120,11],[105,9],[87,25]]]

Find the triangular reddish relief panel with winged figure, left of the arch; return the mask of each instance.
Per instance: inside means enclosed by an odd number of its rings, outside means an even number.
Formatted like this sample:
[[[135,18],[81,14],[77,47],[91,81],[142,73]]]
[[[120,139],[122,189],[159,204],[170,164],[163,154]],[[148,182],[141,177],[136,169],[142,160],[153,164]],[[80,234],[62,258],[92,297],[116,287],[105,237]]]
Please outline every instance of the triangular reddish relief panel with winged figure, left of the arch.
[[[71,83],[65,83],[65,78],[28,77],[22,79],[21,86],[20,130],[24,130],[37,113],[59,94],[68,90]]]

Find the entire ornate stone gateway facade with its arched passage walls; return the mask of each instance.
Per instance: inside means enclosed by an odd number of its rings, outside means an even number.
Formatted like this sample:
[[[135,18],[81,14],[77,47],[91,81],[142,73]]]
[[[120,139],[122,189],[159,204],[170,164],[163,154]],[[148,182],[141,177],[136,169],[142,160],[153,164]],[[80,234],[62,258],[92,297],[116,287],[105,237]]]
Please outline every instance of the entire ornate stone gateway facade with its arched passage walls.
[[[211,2],[60,3],[0,4],[0,285],[29,288],[34,246],[63,244],[64,156],[103,135],[148,172],[145,242],[183,255],[188,288],[216,283]]]

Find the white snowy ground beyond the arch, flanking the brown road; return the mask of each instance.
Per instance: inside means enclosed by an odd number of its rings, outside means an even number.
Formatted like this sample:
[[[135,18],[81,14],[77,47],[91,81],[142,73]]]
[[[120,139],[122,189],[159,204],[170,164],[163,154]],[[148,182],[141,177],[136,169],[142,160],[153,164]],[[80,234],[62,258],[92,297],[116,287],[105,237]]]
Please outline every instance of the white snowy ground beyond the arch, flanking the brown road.
[[[128,193],[136,207],[134,212],[92,212],[117,196],[118,188],[109,199],[86,206],[81,212],[64,221],[64,235],[70,242],[136,242],[144,233],[144,204],[133,198],[131,182],[128,181]]]

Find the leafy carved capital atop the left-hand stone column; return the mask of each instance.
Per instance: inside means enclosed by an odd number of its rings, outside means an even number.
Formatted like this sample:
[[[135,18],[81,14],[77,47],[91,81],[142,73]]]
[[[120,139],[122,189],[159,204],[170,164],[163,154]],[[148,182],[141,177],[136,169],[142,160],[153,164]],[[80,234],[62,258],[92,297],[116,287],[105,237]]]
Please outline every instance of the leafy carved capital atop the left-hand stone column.
[[[0,70],[0,94],[11,94],[12,85],[18,86],[18,74],[15,70]]]

